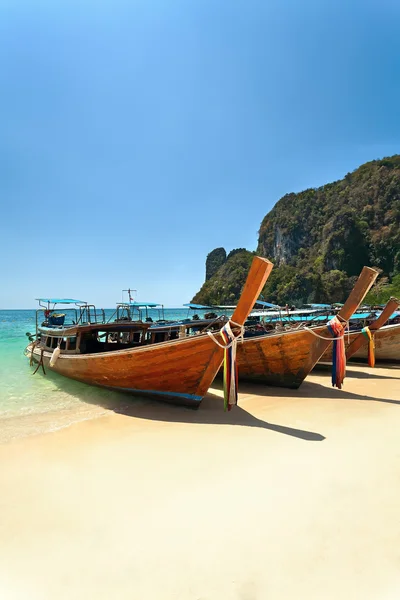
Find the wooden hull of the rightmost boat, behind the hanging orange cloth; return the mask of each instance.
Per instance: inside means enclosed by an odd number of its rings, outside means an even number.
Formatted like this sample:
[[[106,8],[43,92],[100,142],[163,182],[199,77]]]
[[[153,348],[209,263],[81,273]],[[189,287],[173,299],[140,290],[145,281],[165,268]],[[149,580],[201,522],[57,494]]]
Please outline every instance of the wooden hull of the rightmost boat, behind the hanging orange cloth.
[[[360,332],[350,334],[350,343]],[[400,363],[400,323],[381,327],[374,334],[375,358],[377,361]],[[346,348],[349,346],[347,336],[345,338]],[[365,344],[351,357],[350,360],[367,360],[368,347]],[[332,352],[325,352],[321,362],[332,362]]]

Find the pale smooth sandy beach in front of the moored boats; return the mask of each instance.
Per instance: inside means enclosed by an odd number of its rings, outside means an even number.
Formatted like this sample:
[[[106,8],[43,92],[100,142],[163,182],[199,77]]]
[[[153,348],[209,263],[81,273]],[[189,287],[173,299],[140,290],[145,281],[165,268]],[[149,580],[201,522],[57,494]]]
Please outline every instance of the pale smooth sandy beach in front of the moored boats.
[[[400,598],[400,369],[0,446],[0,598]]]

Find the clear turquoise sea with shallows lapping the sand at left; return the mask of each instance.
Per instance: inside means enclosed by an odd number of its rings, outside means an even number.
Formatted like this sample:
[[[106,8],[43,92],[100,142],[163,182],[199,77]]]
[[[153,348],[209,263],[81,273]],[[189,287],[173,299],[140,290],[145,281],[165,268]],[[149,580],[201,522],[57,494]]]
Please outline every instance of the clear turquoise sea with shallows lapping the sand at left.
[[[106,318],[112,313],[106,310]],[[159,318],[155,311],[149,315]],[[166,319],[187,316],[185,308],[165,309]],[[35,331],[35,310],[0,310],[0,443],[97,418],[115,404],[138,401],[127,394],[66,379],[48,369],[46,375],[39,371],[32,375],[34,368],[24,356],[28,331]]]

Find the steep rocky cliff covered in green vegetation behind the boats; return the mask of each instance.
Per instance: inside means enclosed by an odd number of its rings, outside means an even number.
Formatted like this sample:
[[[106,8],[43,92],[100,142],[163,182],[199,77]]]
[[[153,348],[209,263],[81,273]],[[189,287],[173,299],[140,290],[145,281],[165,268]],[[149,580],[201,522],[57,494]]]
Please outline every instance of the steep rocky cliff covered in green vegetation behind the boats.
[[[219,249],[221,250],[221,249]],[[275,264],[263,292],[279,304],[343,301],[364,265],[382,270],[380,301],[400,274],[400,156],[368,162],[342,180],[287,194],[264,217],[257,254]],[[236,302],[253,254],[239,249],[194,300]],[[378,301],[374,292],[371,301]]]

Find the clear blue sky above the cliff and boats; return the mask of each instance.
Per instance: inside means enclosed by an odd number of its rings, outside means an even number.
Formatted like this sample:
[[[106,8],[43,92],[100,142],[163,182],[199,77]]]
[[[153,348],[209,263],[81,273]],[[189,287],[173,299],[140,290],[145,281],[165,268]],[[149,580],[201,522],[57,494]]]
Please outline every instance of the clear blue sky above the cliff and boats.
[[[179,306],[285,193],[400,152],[395,0],[0,0],[0,308]]]

